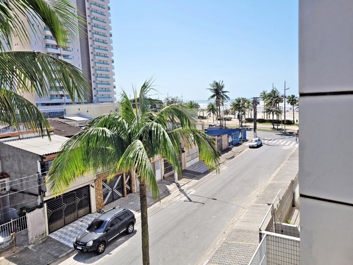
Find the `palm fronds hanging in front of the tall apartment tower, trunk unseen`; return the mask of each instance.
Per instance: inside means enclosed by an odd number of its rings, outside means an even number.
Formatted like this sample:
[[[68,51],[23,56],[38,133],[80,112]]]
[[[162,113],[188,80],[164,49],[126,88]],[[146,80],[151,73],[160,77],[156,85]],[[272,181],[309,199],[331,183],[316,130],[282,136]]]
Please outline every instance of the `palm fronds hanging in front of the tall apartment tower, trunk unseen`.
[[[35,21],[38,26],[45,24],[58,46],[65,48],[68,39],[78,40],[75,34],[83,33],[79,27],[82,19],[77,7],[67,0],[0,0],[0,5],[0,35],[4,40],[0,42],[0,121],[17,129],[19,122],[23,122],[46,134],[50,128],[47,119],[20,94],[36,92],[43,98],[48,96],[50,87],[59,94],[56,80],[71,99],[76,94],[80,102],[86,102],[91,86],[80,69],[64,60],[37,51],[13,51],[13,39],[29,43],[32,40],[29,31],[38,35],[42,30],[27,29]]]

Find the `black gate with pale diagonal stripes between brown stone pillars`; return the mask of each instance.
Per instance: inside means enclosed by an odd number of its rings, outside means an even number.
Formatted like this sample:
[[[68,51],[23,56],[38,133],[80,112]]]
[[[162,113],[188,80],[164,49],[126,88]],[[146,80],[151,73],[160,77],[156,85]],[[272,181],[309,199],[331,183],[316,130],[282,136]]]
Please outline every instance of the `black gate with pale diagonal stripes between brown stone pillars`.
[[[130,173],[125,174],[126,180],[126,194],[131,192],[130,187]],[[110,181],[104,180],[102,182],[103,188],[103,204],[106,205],[109,202],[115,201],[122,197],[122,174],[115,176]]]

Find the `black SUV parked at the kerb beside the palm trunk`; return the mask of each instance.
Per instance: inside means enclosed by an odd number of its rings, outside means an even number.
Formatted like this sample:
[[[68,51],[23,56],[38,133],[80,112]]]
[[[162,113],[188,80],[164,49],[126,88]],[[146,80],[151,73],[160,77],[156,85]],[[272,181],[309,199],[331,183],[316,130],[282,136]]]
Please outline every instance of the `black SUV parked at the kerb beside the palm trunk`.
[[[133,212],[114,207],[94,219],[85,231],[75,237],[73,247],[78,251],[102,254],[110,240],[123,232],[131,234],[135,223]]]

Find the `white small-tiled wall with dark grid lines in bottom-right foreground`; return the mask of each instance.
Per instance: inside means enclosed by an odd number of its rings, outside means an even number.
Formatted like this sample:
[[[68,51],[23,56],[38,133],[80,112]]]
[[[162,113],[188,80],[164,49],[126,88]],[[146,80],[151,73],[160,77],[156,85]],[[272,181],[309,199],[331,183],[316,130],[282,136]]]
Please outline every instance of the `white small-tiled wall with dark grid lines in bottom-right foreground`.
[[[268,265],[299,265],[300,239],[266,232]]]

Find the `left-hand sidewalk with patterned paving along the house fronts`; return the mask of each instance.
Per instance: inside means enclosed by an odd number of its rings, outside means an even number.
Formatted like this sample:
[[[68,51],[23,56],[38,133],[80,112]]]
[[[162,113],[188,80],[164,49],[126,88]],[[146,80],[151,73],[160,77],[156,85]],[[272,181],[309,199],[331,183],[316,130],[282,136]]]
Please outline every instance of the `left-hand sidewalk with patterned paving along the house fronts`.
[[[226,151],[221,153],[221,164],[228,159],[232,159],[235,155],[248,148],[244,144],[238,144],[232,148],[228,148]],[[183,186],[191,181],[197,181],[201,179],[208,172],[207,167],[202,161],[195,163],[182,171],[183,178],[180,179],[179,185]],[[158,181],[158,187],[160,190],[161,199],[178,189],[177,184],[174,183],[174,176],[166,177],[161,181]],[[151,193],[148,193],[147,202],[151,206],[154,204]],[[135,213],[136,216],[140,212],[140,196],[139,193],[128,194],[125,198],[120,198],[107,204],[104,208],[99,211],[107,211],[112,207],[128,208]],[[87,214],[78,220],[60,228],[49,236],[43,238],[40,241],[33,243],[32,245],[21,249],[7,257],[0,258],[0,265],[47,265],[54,261],[64,257],[65,255],[74,251],[72,242],[75,236],[80,231],[84,230],[92,220],[100,213]]]

